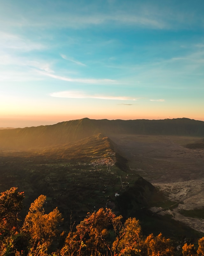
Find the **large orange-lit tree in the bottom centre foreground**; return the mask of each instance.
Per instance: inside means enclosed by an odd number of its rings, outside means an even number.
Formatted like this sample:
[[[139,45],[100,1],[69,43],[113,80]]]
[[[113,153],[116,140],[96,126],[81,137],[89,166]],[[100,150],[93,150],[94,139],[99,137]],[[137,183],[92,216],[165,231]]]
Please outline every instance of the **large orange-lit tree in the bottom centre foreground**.
[[[99,255],[109,252],[112,243],[120,234],[122,216],[116,216],[111,209],[99,209],[88,213],[77,225],[76,232],[69,232],[61,255]]]

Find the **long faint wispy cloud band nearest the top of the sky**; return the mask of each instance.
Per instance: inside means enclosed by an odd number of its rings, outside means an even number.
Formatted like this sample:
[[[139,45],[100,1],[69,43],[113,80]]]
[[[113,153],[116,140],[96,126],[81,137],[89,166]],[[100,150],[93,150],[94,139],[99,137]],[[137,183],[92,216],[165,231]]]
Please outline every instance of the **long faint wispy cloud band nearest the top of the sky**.
[[[20,19],[20,17],[18,17]],[[4,20],[7,20],[4,18]],[[128,14],[124,13],[110,13],[110,14],[71,14],[69,12],[44,15],[43,17],[38,16],[38,20],[33,17],[26,17],[20,22],[16,22],[16,19],[10,19],[9,25],[12,27],[61,27],[61,28],[86,28],[89,26],[98,26],[102,24],[114,24],[117,26],[120,25],[135,25],[138,27],[149,27],[163,29],[167,25],[163,20],[158,20],[157,17],[150,18],[148,15],[137,14]]]

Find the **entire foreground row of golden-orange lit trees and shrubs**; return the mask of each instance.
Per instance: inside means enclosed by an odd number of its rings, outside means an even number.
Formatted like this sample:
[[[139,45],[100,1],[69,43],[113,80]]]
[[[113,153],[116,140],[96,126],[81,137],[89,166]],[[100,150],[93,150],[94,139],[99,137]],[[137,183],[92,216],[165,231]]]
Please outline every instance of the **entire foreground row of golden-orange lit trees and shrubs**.
[[[139,220],[116,216],[111,209],[88,213],[69,232],[61,230],[62,215],[57,208],[45,213],[46,196],[40,195],[31,204],[23,225],[18,213],[22,209],[23,192],[11,188],[0,196],[1,256],[194,256],[204,255],[204,237],[193,244],[185,243],[178,254],[170,239],[160,233],[145,237]],[[181,247],[181,246],[180,246]]]

